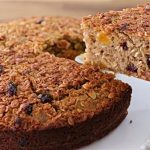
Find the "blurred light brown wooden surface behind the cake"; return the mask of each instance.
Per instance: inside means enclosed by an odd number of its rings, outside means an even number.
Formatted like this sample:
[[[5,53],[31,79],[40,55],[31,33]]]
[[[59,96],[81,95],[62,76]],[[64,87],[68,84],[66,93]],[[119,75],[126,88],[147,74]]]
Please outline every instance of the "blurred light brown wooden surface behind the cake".
[[[82,17],[98,11],[120,10],[150,0],[0,0],[0,20],[65,15]]]

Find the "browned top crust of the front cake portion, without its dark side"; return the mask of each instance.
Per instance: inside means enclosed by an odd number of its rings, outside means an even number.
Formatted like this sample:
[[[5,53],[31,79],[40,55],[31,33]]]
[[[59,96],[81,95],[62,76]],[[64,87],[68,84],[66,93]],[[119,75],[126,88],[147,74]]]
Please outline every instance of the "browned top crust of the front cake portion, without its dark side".
[[[0,53],[4,68],[0,76],[0,124],[6,128],[72,126],[111,107],[130,89],[97,67],[82,66],[48,53],[33,58],[6,54]],[[32,110],[26,112],[29,104]]]

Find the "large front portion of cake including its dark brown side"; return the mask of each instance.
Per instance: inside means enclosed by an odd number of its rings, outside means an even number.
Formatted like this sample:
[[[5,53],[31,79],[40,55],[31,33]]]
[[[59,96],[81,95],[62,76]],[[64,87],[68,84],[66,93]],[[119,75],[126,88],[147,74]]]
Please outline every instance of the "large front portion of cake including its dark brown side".
[[[98,67],[48,52],[33,57],[1,51],[0,149],[66,150],[89,144],[125,118],[131,91]]]

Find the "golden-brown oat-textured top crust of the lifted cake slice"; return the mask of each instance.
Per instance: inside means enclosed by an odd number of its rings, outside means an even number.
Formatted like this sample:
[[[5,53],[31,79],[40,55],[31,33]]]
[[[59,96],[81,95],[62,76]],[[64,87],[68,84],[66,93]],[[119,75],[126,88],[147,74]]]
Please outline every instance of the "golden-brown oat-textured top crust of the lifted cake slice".
[[[127,8],[123,11],[109,11],[83,18],[84,28],[96,31],[125,32],[135,36],[150,36],[150,4]]]

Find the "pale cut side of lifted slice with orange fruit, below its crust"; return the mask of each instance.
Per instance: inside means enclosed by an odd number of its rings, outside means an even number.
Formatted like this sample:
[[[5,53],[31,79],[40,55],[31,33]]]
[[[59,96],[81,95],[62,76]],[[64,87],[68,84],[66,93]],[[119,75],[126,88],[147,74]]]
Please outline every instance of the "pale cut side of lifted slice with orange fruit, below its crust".
[[[84,33],[86,43],[85,62],[100,65],[115,72],[126,73],[150,80],[149,40],[129,37],[124,32],[88,29]]]

